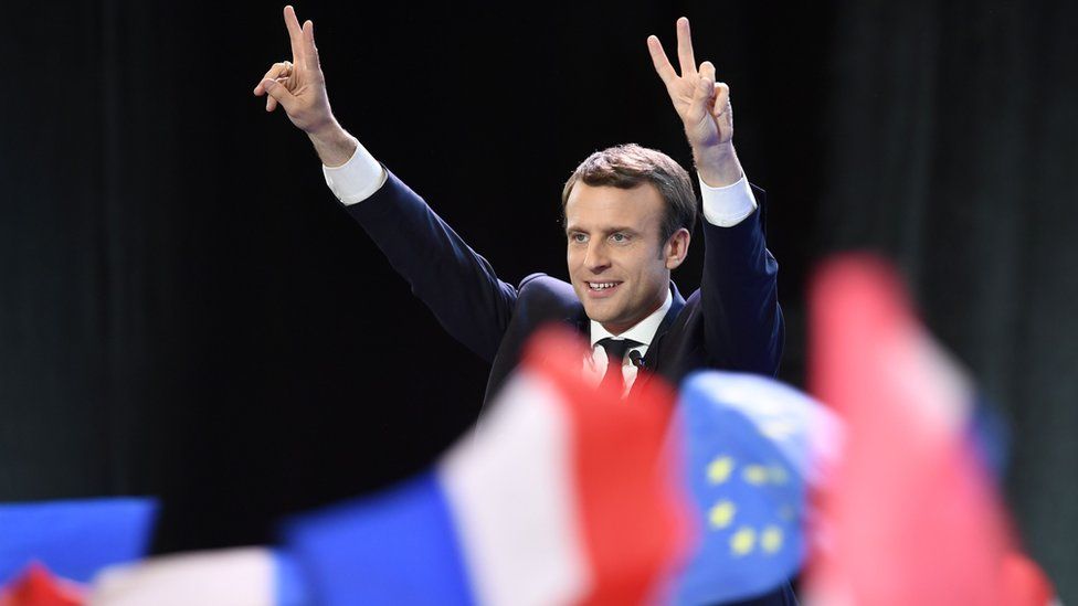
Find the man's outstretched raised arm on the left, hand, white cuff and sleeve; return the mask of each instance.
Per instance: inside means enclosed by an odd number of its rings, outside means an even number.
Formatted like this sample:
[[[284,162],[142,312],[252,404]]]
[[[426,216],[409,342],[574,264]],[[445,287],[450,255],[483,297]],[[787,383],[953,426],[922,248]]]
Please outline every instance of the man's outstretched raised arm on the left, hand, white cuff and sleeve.
[[[273,64],[254,94],[268,95],[266,110],[279,105],[307,134],[334,194],[450,334],[493,360],[516,289],[341,128],[329,108],[314,24],[300,26],[292,7],[284,13],[292,61]]]

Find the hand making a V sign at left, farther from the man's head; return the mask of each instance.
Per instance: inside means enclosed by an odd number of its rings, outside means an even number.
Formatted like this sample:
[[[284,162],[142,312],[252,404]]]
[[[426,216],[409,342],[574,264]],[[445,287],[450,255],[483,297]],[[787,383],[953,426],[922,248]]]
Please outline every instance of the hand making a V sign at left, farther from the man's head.
[[[285,7],[285,26],[292,42],[292,61],[274,63],[254,87],[254,94],[258,97],[268,94],[266,111],[281,104],[292,124],[314,135],[336,126],[326,94],[326,78],[318,63],[315,24],[308,20],[300,28],[296,11]]]

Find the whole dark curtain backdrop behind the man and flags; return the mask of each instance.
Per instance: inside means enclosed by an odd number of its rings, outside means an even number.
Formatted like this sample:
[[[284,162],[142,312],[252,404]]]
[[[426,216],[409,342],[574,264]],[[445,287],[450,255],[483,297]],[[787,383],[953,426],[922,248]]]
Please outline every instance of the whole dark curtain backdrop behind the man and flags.
[[[263,543],[282,515],[422,469],[474,421],[483,361],[251,95],[287,59],[279,7],[8,4],[0,500],[157,495],[155,551]],[[672,47],[688,14],[769,192],[783,378],[804,380],[813,263],[897,259],[1005,411],[1012,506],[1072,599],[1074,8],[297,9],[340,121],[508,281],[566,275],[558,196],[591,151],[635,141],[689,164],[644,46]]]

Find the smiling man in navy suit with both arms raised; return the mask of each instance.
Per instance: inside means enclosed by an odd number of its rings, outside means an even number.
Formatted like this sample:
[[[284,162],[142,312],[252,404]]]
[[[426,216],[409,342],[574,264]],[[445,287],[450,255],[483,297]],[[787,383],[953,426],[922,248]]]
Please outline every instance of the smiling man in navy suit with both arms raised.
[[[680,75],[658,39],[647,46],[685,126],[704,195],[705,273],[688,300],[670,270],[688,254],[696,199],[667,156],[619,146],[588,158],[562,195],[571,284],[542,274],[514,287],[497,278],[426,203],[335,119],[314,41],[285,8],[292,62],[274,64],[254,89],[307,134],[326,181],[446,330],[492,363],[486,401],[539,326],[563,321],[593,347],[584,366],[625,393],[647,369],[677,383],[698,368],[778,370],[783,340],[778,266],[763,236],[762,191],[750,189],[733,149],[730,91],[693,54],[677,22]],[[755,195],[754,195],[755,194]]]

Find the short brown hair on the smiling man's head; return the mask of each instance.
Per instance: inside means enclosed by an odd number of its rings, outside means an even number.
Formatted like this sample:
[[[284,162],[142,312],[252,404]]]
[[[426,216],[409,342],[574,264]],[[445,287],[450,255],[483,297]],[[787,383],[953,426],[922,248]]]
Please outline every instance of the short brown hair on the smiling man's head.
[[[659,233],[660,245],[681,227],[693,233],[696,226],[696,194],[693,192],[689,173],[662,151],[625,143],[589,156],[577,167],[561,191],[562,222],[566,203],[569,202],[569,194],[577,181],[592,187],[607,185],[623,190],[633,189],[641,183],[655,185],[666,202]]]

